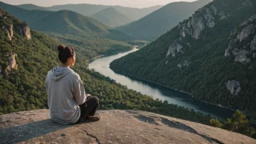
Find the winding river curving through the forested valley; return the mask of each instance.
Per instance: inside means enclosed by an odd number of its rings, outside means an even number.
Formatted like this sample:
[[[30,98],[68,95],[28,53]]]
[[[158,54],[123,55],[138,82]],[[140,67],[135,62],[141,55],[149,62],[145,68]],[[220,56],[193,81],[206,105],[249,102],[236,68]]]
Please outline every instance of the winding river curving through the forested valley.
[[[169,103],[184,106],[185,108],[193,108],[194,111],[201,111],[202,113],[209,114],[222,121],[232,116],[234,111],[231,111],[227,108],[200,102],[199,100],[194,99],[191,97],[191,95],[186,93],[168,89],[166,87],[161,87],[158,84],[153,84],[151,82],[143,81],[130,76],[124,76],[113,72],[111,68],[109,68],[109,64],[113,60],[116,60],[137,50],[138,49],[132,49],[129,52],[122,52],[117,55],[97,58],[89,63],[89,68],[95,69],[95,71],[103,74],[104,76],[110,77],[122,85],[126,85],[129,89],[134,89],[137,92],[149,95],[154,99],[158,98],[162,101],[167,100]]]

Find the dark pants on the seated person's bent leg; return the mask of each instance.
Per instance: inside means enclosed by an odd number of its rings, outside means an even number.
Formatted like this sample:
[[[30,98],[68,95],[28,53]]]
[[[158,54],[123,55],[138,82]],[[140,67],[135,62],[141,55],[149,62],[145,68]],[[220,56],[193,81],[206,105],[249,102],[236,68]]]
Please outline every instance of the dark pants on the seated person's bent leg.
[[[81,116],[79,118],[79,121],[83,121],[86,118],[86,116],[95,116],[98,106],[99,99],[96,96],[90,97],[85,101],[85,103],[79,105],[81,109]]]

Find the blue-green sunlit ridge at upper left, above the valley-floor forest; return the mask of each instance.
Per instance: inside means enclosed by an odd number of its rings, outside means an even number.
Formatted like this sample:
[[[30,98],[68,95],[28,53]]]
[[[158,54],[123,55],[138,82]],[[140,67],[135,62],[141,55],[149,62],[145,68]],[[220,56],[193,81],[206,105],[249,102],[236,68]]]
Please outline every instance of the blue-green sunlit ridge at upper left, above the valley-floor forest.
[[[0,2],[0,7],[20,20],[25,20],[36,31],[60,33],[73,36],[85,36],[87,39],[104,38],[119,41],[130,41],[132,38],[121,31],[116,31],[103,25],[97,20],[71,12],[61,10],[46,12],[41,10],[25,10]]]

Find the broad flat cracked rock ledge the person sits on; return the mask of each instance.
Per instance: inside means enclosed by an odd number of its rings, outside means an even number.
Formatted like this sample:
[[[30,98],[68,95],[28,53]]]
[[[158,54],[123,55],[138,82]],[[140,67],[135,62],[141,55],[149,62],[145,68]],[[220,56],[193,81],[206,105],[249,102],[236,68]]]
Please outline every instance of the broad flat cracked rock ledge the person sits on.
[[[49,110],[0,116],[1,143],[256,143],[235,132],[144,111],[99,111],[101,120],[62,125]]]

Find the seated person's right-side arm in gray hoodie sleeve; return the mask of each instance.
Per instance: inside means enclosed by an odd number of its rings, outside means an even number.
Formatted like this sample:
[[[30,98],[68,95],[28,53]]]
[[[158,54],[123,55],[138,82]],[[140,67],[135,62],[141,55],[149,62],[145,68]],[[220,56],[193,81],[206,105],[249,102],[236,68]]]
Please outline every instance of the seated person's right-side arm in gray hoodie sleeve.
[[[81,105],[82,103],[85,102],[85,100],[87,100],[87,96],[85,95],[85,90],[84,90],[84,85],[80,79],[80,77],[78,77],[76,79],[76,81],[74,81],[74,97],[76,98],[76,103],[78,105]]]

